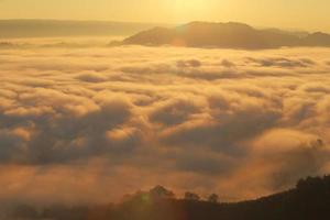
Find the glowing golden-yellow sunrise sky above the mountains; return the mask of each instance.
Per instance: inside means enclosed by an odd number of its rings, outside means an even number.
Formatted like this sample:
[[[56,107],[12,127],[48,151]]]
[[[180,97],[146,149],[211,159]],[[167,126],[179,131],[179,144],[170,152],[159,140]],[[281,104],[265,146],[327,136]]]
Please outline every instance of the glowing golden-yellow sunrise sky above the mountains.
[[[330,32],[328,0],[0,0],[0,19],[238,21]]]

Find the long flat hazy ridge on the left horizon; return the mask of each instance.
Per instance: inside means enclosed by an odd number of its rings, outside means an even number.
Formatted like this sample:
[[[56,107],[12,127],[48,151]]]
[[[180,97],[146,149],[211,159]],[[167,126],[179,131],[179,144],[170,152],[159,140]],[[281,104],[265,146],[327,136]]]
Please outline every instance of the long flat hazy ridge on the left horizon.
[[[56,36],[129,36],[155,23],[59,20],[0,20],[0,38]]]

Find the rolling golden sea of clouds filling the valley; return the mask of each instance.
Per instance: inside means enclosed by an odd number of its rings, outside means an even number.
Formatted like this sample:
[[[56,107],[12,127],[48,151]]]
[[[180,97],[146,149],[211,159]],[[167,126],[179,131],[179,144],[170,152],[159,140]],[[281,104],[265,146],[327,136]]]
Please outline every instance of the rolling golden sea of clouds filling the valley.
[[[222,200],[330,172],[330,50],[0,50],[0,200]]]

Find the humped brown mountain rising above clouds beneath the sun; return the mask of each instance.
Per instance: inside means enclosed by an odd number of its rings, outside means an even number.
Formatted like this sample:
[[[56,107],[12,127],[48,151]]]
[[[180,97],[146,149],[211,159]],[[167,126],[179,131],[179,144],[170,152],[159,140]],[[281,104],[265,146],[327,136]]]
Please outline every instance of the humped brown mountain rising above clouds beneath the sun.
[[[282,46],[330,46],[330,35],[276,29],[257,30],[234,22],[191,22],[174,29],[154,28],[143,31],[125,38],[122,44],[260,50]]]

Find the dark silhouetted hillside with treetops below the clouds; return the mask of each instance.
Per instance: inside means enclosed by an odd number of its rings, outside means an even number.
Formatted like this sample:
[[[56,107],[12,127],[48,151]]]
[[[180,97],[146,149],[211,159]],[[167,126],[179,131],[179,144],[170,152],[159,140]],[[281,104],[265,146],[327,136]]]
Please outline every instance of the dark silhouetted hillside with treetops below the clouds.
[[[18,206],[13,219],[54,220],[326,220],[330,219],[330,176],[308,177],[296,188],[256,200],[219,202],[217,195],[201,200],[197,194],[174,193],[157,186],[150,191],[127,196],[120,205]]]

